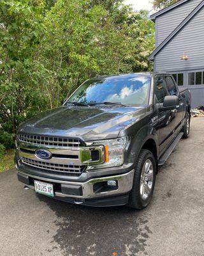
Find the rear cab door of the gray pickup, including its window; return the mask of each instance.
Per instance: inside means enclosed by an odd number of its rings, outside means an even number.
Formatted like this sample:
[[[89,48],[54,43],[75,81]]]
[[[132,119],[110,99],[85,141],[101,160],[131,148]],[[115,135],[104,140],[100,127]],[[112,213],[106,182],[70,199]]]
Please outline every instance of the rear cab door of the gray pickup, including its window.
[[[177,86],[175,82],[173,81],[173,78],[170,75],[164,76],[166,81],[166,86],[168,88],[168,92],[170,95],[176,95],[179,97],[179,106],[177,109],[171,110],[172,113],[174,113],[173,118],[173,125],[175,129],[175,135],[177,134],[177,131],[179,132],[179,127],[182,123],[183,119],[183,112],[184,112],[184,102],[183,99],[179,93],[179,90],[177,89]]]

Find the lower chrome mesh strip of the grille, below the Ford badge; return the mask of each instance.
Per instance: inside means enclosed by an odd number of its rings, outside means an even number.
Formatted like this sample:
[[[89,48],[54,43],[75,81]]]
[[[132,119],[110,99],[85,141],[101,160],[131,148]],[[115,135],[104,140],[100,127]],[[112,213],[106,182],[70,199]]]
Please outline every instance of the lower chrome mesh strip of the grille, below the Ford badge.
[[[40,168],[43,170],[48,170],[52,172],[61,172],[61,173],[73,173],[81,174],[85,170],[85,166],[82,165],[68,165],[68,164],[57,164],[57,163],[47,163],[44,161],[37,161],[27,157],[20,157],[22,163],[35,168]]]

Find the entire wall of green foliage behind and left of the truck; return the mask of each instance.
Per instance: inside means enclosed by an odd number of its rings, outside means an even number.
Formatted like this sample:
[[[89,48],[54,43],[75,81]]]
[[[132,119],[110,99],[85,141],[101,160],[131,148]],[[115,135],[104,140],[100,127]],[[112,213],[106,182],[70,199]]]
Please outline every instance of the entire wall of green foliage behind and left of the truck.
[[[152,69],[154,24],[122,0],[2,0],[0,38],[6,148],[25,118],[59,106],[85,79]]]

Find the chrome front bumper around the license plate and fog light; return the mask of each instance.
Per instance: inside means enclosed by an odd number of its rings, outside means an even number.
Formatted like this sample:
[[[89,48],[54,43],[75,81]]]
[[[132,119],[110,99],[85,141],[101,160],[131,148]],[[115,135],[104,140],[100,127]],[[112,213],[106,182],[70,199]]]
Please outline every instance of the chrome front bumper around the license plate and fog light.
[[[113,175],[108,177],[101,177],[96,179],[90,179],[87,182],[70,182],[64,180],[55,180],[55,179],[48,179],[43,177],[38,177],[36,175],[31,175],[29,173],[25,173],[20,170],[17,166],[17,171],[23,175],[31,177],[33,179],[41,180],[43,182],[52,182],[52,183],[60,183],[60,184],[67,184],[72,186],[81,186],[82,187],[82,196],[77,195],[67,195],[61,193],[61,191],[54,191],[54,195],[58,197],[71,197],[71,198],[82,198],[82,199],[91,199],[91,198],[103,198],[107,196],[115,196],[115,195],[122,195],[126,194],[133,188],[133,177],[135,170],[131,170],[131,172],[120,174],[120,175]],[[94,184],[98,182],[106,182],[108,180],[117,180],[118,188],[112,191],[104,191],[99,193],[94,193]],[[26,185],[28,188],[34,189],[32,185]]]

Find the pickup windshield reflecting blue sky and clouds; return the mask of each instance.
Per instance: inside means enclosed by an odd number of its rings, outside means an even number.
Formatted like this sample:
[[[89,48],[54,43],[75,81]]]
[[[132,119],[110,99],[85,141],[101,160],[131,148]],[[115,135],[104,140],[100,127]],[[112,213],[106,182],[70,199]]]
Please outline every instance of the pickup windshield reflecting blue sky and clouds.
[[[149,88],[149,74],[90,79],[73,93],[68,102],[120,102],[125,105],[143,106],[149,102]]]

